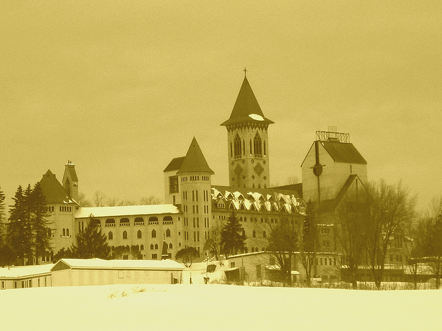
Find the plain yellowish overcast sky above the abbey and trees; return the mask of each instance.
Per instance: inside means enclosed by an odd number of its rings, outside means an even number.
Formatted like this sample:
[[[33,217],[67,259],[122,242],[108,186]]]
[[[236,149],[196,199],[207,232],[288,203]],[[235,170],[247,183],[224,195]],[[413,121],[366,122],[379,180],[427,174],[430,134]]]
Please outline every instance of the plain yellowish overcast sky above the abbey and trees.
[[[91,199],[164,199],[196,137],[228,185],[227,130],[247,79],[269,127],[270,182],[301,179],[337,126],[370,181],[440,197],[441,1],[1,1],[0,188],[76,164]]]

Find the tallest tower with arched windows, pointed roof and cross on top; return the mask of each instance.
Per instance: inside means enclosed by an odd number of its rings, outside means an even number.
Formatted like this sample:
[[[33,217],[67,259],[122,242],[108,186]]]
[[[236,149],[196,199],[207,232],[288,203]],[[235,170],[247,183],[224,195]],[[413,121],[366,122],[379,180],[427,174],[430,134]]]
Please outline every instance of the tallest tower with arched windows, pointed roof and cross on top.
[[[267,130],[273,121],[267,119],[247,80],[244,81],[230,118],[221,126],[227,128],[229,153],[229,185],[231,188],[268,188],[269,136]]]

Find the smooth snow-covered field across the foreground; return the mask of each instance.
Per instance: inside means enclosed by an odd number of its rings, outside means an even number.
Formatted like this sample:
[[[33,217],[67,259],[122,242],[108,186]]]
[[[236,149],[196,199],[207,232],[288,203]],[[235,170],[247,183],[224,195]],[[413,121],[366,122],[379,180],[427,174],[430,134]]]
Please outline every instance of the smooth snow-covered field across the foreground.
[[[0,291],[1,330],[441,330],[441,290],[104,285]]]

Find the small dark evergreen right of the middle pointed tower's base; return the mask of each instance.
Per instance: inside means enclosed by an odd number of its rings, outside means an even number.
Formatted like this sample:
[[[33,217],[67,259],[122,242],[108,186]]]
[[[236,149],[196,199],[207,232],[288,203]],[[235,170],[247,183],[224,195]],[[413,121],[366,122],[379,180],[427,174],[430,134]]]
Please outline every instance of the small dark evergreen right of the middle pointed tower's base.
[[[246,237],[242,235],[243,230],[235,211],[232,210],[227,223],[222,227],[220,242],[222,254],[232,255],[244,251]]]

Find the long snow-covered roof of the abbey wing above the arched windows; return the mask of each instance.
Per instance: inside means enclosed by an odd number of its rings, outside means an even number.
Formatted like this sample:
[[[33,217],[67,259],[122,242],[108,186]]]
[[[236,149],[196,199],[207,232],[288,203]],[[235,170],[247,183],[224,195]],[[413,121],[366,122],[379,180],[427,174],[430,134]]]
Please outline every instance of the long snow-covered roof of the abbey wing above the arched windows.
[[[118,217],[178,213],[180,210],[175,205],[119,205],[115,207],[81,207],[75,213],[75,218],[87,218],[90,214],[95,217]]]

